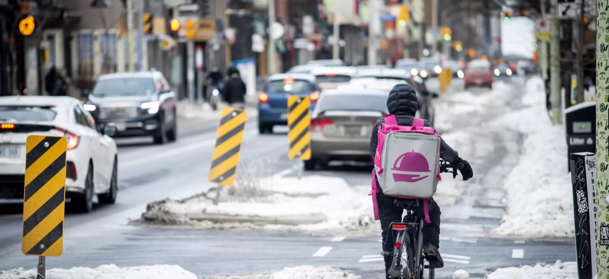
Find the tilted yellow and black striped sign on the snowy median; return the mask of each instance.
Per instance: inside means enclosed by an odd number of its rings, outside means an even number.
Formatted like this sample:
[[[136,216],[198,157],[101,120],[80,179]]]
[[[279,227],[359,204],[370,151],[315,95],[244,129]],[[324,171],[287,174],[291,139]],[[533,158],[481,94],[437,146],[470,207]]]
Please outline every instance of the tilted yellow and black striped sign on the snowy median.
[[[231,107],[222,109],[216,135],[216,147],[211,158],[209,181],[224,186],[233,186],[239,163],[239,149],[243,140],[247,113]]]

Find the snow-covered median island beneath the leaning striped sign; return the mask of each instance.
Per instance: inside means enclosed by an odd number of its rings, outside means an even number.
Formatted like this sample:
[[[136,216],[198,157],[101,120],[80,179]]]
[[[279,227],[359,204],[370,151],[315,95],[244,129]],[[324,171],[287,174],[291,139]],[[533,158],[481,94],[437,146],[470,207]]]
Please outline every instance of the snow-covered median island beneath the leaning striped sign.
[[[353,233],[373,235],[370,186],[352,187],[342,178],[322,175],[273,177],[273,188],[264,201],[227,200],[213,205],[205,194],[185,200],[150,203],[144,222],[196,228]],[[224,195],[224,194],[223,194]]]

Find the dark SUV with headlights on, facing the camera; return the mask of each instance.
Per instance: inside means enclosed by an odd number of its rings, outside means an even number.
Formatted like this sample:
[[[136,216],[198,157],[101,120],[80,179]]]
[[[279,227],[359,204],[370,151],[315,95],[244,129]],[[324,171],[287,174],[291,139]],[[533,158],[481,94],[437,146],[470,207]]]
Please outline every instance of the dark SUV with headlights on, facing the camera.
[[[97,125],[113,124],[115,137],[152,136],[162,144],[177,138],[175,93],[159,71],[104,74],[85,110]]]

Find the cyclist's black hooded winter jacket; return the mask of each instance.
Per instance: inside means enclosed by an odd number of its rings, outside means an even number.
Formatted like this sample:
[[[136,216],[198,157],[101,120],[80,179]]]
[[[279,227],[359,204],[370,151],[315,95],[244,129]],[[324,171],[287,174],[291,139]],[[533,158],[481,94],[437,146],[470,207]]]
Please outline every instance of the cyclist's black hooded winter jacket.
[[[400,125],[412,125],[412,120],[417,113],[417,94],[415,90],[407,83],[395,85],[389,92],[387,97],[387,109],[389,113],[395,115],[395,118]],[[384,123],[383,118],[376,120],[375,128],[372,129],[370,138],[370,155],[374,160],[376,154],[376,145],[378,144],[378,128],[381,123]],[[425,126],[431,127],[429,122],[425,121]],[[456,164],[459,162],[459,153],[452,149],[444,140],[440,139],[440,158],[448,161],[448,163]]]

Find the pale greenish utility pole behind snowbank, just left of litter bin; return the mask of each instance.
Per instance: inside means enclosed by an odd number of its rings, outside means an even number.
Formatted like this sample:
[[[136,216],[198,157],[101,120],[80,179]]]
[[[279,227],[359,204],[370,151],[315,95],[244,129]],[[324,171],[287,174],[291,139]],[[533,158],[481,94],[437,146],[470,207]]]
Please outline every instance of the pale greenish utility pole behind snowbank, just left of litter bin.
[[[558,18],[556,16],[556,0],[550,5],[550,88],[552,103],[552,122],[560,124],[560,33],[558,32]]]

